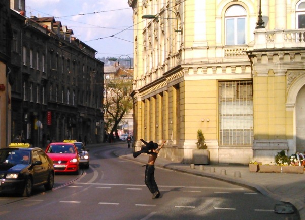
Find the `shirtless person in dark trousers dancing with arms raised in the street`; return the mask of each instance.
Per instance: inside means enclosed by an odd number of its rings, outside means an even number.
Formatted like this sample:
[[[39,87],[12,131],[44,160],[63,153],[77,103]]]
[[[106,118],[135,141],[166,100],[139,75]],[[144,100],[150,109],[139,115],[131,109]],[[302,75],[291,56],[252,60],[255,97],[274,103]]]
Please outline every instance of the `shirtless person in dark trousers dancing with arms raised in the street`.
[[[136,158],[141,153],[150,154],[149,158],[148,158],[148,163],[146,165],[144,165],[144,166],[146,166],[146,169],[145,169],[145,184],[148,187],[149,191],[153,194],[152,198],[153,199],[159,198],[160,197],[160,192],[159,192],[157,183],[155,181],[155,176],[154,176],[155,165],[154,165],[154,163],[157,159],[157,156],[158,156],[158,153],[159,153],[160,149],[164,146],[166,141],[162,140],[161,146],[158,146],[157,143],[154,143],[152,141],[150,141],[149,143],[147,143],[143,139],[140,139],[140,141],[142,141],[146,146],[142,147],[142,149],[140,151],[134,152],[133,157]]]

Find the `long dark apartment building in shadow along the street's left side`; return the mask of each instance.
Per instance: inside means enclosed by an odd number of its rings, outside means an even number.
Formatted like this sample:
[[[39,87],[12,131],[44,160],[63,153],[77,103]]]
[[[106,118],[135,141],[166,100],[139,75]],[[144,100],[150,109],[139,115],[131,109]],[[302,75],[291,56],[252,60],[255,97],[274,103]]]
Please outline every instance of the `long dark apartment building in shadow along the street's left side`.
[[[103,141],[97,51],[54,17],[26,17],[25,1],[11,0],[11,28],[11,141]]]

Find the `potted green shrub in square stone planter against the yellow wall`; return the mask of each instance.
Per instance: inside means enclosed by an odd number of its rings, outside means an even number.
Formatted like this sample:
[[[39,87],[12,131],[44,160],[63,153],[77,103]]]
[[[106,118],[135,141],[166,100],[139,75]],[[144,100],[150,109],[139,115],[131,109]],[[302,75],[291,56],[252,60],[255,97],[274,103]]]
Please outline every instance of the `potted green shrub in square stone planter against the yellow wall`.
[[[193,164],[209,164],[210,163],[210,154],[205,144],[205,137],[202,133],[202,130],[197,131],[197,149],[193,149]]]

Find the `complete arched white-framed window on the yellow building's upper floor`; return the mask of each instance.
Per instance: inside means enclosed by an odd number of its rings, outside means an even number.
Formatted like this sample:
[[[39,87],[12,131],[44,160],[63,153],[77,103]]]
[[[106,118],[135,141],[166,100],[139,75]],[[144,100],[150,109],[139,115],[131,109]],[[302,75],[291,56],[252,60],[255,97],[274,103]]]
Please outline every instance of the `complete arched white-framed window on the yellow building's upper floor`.
[[[229,7],[225,13],[226,45],[246,44],[246,10],[240,5]]]

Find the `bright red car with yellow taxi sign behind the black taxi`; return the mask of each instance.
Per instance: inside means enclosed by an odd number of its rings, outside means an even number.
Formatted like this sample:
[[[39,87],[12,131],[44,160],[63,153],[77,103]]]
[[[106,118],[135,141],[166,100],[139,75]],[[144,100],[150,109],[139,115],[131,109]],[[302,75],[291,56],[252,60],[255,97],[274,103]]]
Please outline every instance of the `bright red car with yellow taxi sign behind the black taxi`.
[[[74,143],[50,143],[46,153],[52,159],[56,173],[79,172],[79,155]]]

